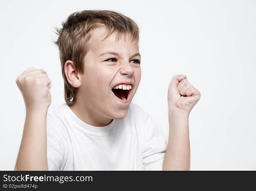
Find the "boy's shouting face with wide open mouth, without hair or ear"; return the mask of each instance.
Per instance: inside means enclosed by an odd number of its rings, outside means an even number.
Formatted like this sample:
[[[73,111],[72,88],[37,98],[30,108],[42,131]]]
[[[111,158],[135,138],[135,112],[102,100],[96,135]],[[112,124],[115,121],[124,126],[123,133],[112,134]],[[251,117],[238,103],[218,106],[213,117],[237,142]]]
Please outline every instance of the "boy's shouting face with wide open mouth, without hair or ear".
[[[114,33],[102,41],[104,37],[105,28],[97,28],[88,42],[90,47],[84,57],[79,94],[86,99],[86,106],[99,112],[99,116],[122,119],[128,112],[141,80],[138,42],[131,42],[128,36],[117,41]],[[116,52],[118,55],[104,54],[106,52]],[[112,90],[124,84],[131,85],[131,89]],[[126,101],[118,98],[120,93]]]

